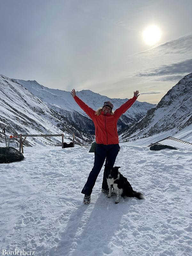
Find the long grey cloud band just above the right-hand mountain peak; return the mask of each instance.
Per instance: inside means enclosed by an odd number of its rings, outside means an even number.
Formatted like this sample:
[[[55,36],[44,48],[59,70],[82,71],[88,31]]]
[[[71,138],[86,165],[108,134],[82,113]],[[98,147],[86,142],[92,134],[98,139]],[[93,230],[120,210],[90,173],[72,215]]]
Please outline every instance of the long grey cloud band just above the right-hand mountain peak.
[[[168,65],[162,65],[158,68],[148,69],[143,72],[136,73],[135,76],[175,76],[178,74],[188,74],[192,72],[192,59],[182,60],[177,63],[171,63]],[[162,79],[161,79],[162,81]]]

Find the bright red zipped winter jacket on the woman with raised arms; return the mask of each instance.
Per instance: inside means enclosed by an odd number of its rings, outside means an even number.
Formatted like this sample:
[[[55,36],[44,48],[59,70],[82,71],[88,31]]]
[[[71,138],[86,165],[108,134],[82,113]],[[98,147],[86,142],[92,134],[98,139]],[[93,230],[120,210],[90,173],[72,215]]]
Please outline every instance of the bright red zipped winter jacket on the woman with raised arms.
[[[127,100],[120,108],[117,108],[114,112],[114,115],[104,114],[101,110],[99,116],[95,115],[95,110],[87,106],[82,100],[77,96],[74,97],[74,100],[79,105],[80,108],[92,119],[95,125],[95,139],[98,144],[118,144],[119,138],[117,134],[117,121],[119,117],[127,111],[128,108],[132,106],[137,98],[134,96],[132,99]]]

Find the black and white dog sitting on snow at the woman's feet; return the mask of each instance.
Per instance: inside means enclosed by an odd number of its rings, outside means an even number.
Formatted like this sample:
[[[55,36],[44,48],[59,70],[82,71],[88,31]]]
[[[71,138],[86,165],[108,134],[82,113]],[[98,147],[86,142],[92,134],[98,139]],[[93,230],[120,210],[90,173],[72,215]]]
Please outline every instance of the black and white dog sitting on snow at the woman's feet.
[[[105,166],[107,184],[109,188],[108,198],[111,197],[111,185],[113,186],[113,192],[116,194],[115,204],[119,203],[119,196],[124,198],[128,197],[137,197],[138,199],[143,199],[143,194],[140,192],[134,191],[131,184],[125,178],[118,169],[121,167],[109,167]]]

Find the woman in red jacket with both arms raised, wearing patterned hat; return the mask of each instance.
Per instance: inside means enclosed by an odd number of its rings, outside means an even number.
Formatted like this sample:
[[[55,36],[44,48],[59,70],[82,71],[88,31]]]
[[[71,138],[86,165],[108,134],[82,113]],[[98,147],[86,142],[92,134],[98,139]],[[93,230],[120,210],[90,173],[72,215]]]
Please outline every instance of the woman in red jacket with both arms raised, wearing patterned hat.
[[[92,119],[95,125],[95,159],[92,171],[89,174],[86,184],[82,189],[81,193],[84,194],[84,204],[91,202],[91,193],[95,185],[97,177],[106,159],[106,164],[113,167],[115,164],[116,157],[120,150],[119,139],[117,133],[117,121],[119,117],[127,111],[128,108],[137,100],[139,91],[134,92],[132,99],[125,102],[120,108],[117,108],[115,112],[112,111],[113,104],[110,101],[104,102],[102,108],[97,111],[88,107],[82,100],[76,96],[75,89],[71,91],[76,103],[84,112]],[[107,179],[105,176],[105,169],[103,174],[102,192],[108,194]]]

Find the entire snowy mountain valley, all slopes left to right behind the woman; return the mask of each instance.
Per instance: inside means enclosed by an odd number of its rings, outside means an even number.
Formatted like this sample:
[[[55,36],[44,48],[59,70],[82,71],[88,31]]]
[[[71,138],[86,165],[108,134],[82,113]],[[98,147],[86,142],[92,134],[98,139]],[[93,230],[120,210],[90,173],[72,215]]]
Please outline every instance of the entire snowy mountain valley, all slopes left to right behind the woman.
[[[13,133],[57,134],[72,136],[75,133],[76,144],[88,145],[94,140],[92,120],[74,102],[70,92],[49,89],[36,81],[15,80],[0,76],[1,127],[7,135]],[[121,142],[135,143],[135,140],[151,138],[151,143],[168,136],[192,142],[192,73],[181,79],[160,100],[157,105],[136,101],[121,116],[118,122]],[[127,99],[110,99],[89,90],[77,92],[87,105],[93,109],[110,100],[114,109]],[[182,135],[181,135],[182,134]],[[66,142],[71,141],[68,137]],[[0,133],[0,142],[4,135]],[[59,145],[60,139],[28,138],[24,145]],[[18,145],[15,140],[15,146]],[[143,145],[143,144],[142,144]]]

